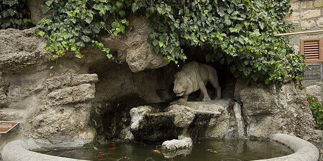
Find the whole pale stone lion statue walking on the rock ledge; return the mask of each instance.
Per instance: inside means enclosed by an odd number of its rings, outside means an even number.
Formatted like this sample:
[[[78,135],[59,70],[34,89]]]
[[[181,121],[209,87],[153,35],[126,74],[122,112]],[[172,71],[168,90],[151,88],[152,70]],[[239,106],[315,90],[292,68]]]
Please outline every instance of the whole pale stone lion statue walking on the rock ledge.
[[[211,98],[205,88],[208,81],[211,82],[217,90],[216,99],[220,99],[221,87],[219,86],[215,69],[210,65],[198,63],[196,61],[185,64],[183,68],[175,74],[173,91],[176,96],[183,96],[183,98],[180,98],[177,102],[186,102],[189,94],[198,89],[200,89],[198,100],[210,101]]]

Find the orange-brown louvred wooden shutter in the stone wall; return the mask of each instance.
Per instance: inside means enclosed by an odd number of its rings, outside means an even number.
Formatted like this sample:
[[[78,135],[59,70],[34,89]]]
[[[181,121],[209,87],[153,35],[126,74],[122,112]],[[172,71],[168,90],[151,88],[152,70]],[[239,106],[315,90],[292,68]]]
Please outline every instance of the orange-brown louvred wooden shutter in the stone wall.
[[[322,42],[322,38],[300,39],[300,54],[306,56],[306,62],[323,62]]]

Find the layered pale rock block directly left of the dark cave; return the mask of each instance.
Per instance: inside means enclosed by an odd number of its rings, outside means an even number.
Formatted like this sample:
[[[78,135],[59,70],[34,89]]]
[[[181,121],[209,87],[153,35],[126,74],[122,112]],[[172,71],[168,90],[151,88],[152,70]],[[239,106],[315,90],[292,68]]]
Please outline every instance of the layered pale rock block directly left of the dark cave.
[[[29,135],[38,141],[63,146],[93,142],[95,131],[89,127],[90,101],[94,98],[96,81],[96,74],[66,74],[46,80],[47,96],[28,119],[31,122]]]

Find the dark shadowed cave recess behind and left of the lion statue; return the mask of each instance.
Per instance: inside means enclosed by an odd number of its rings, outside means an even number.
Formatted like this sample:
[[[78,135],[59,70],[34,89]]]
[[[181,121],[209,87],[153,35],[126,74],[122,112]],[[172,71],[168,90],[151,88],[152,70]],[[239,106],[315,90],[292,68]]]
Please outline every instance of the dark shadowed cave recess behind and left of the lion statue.
[[[221,98],[234,97],[236,78],[230,72],[230,66],[207,62],[203,52],[190,54],[188,60],[213,66],[221,87]],[[149,105],[163,111],[170,102],[179,99],[173,93],[173,81],[183,64],[178,66],[171,62],[164,67],[133,73],[126,63],[106,60],[93,63],[89,73],[97,74],[98,82],[95,83],[95,98],[92,100],[91,125],[97,132],[97,143],[125,138],[124,129],[131,124],[130,109]],[[206,87],[214,99],[216,90],[210,82]],[[189,101],[198,96],[199,90],[190,95]]]

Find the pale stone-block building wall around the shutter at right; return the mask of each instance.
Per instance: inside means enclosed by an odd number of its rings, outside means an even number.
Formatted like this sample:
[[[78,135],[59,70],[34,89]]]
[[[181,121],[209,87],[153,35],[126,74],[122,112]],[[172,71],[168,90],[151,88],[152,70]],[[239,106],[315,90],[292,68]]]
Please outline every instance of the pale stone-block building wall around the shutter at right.
[[[291,0],[293,13],[285,17],[287,22],[292,22],[295,30],[299,31],[312,31],[323,30],[323,0],[299,1]],[[322,38],[323,32],[313,34],[299,34],[291,35],[290,43],[294,49],[300,52],[300,39],[301,38]],[[322,72],[321,72],[322,74]],[[322,100],[323,96],[321,88],[323,88],[322,80],[303,81],[302,84],[306,87],[307,93],[318,97]]]

